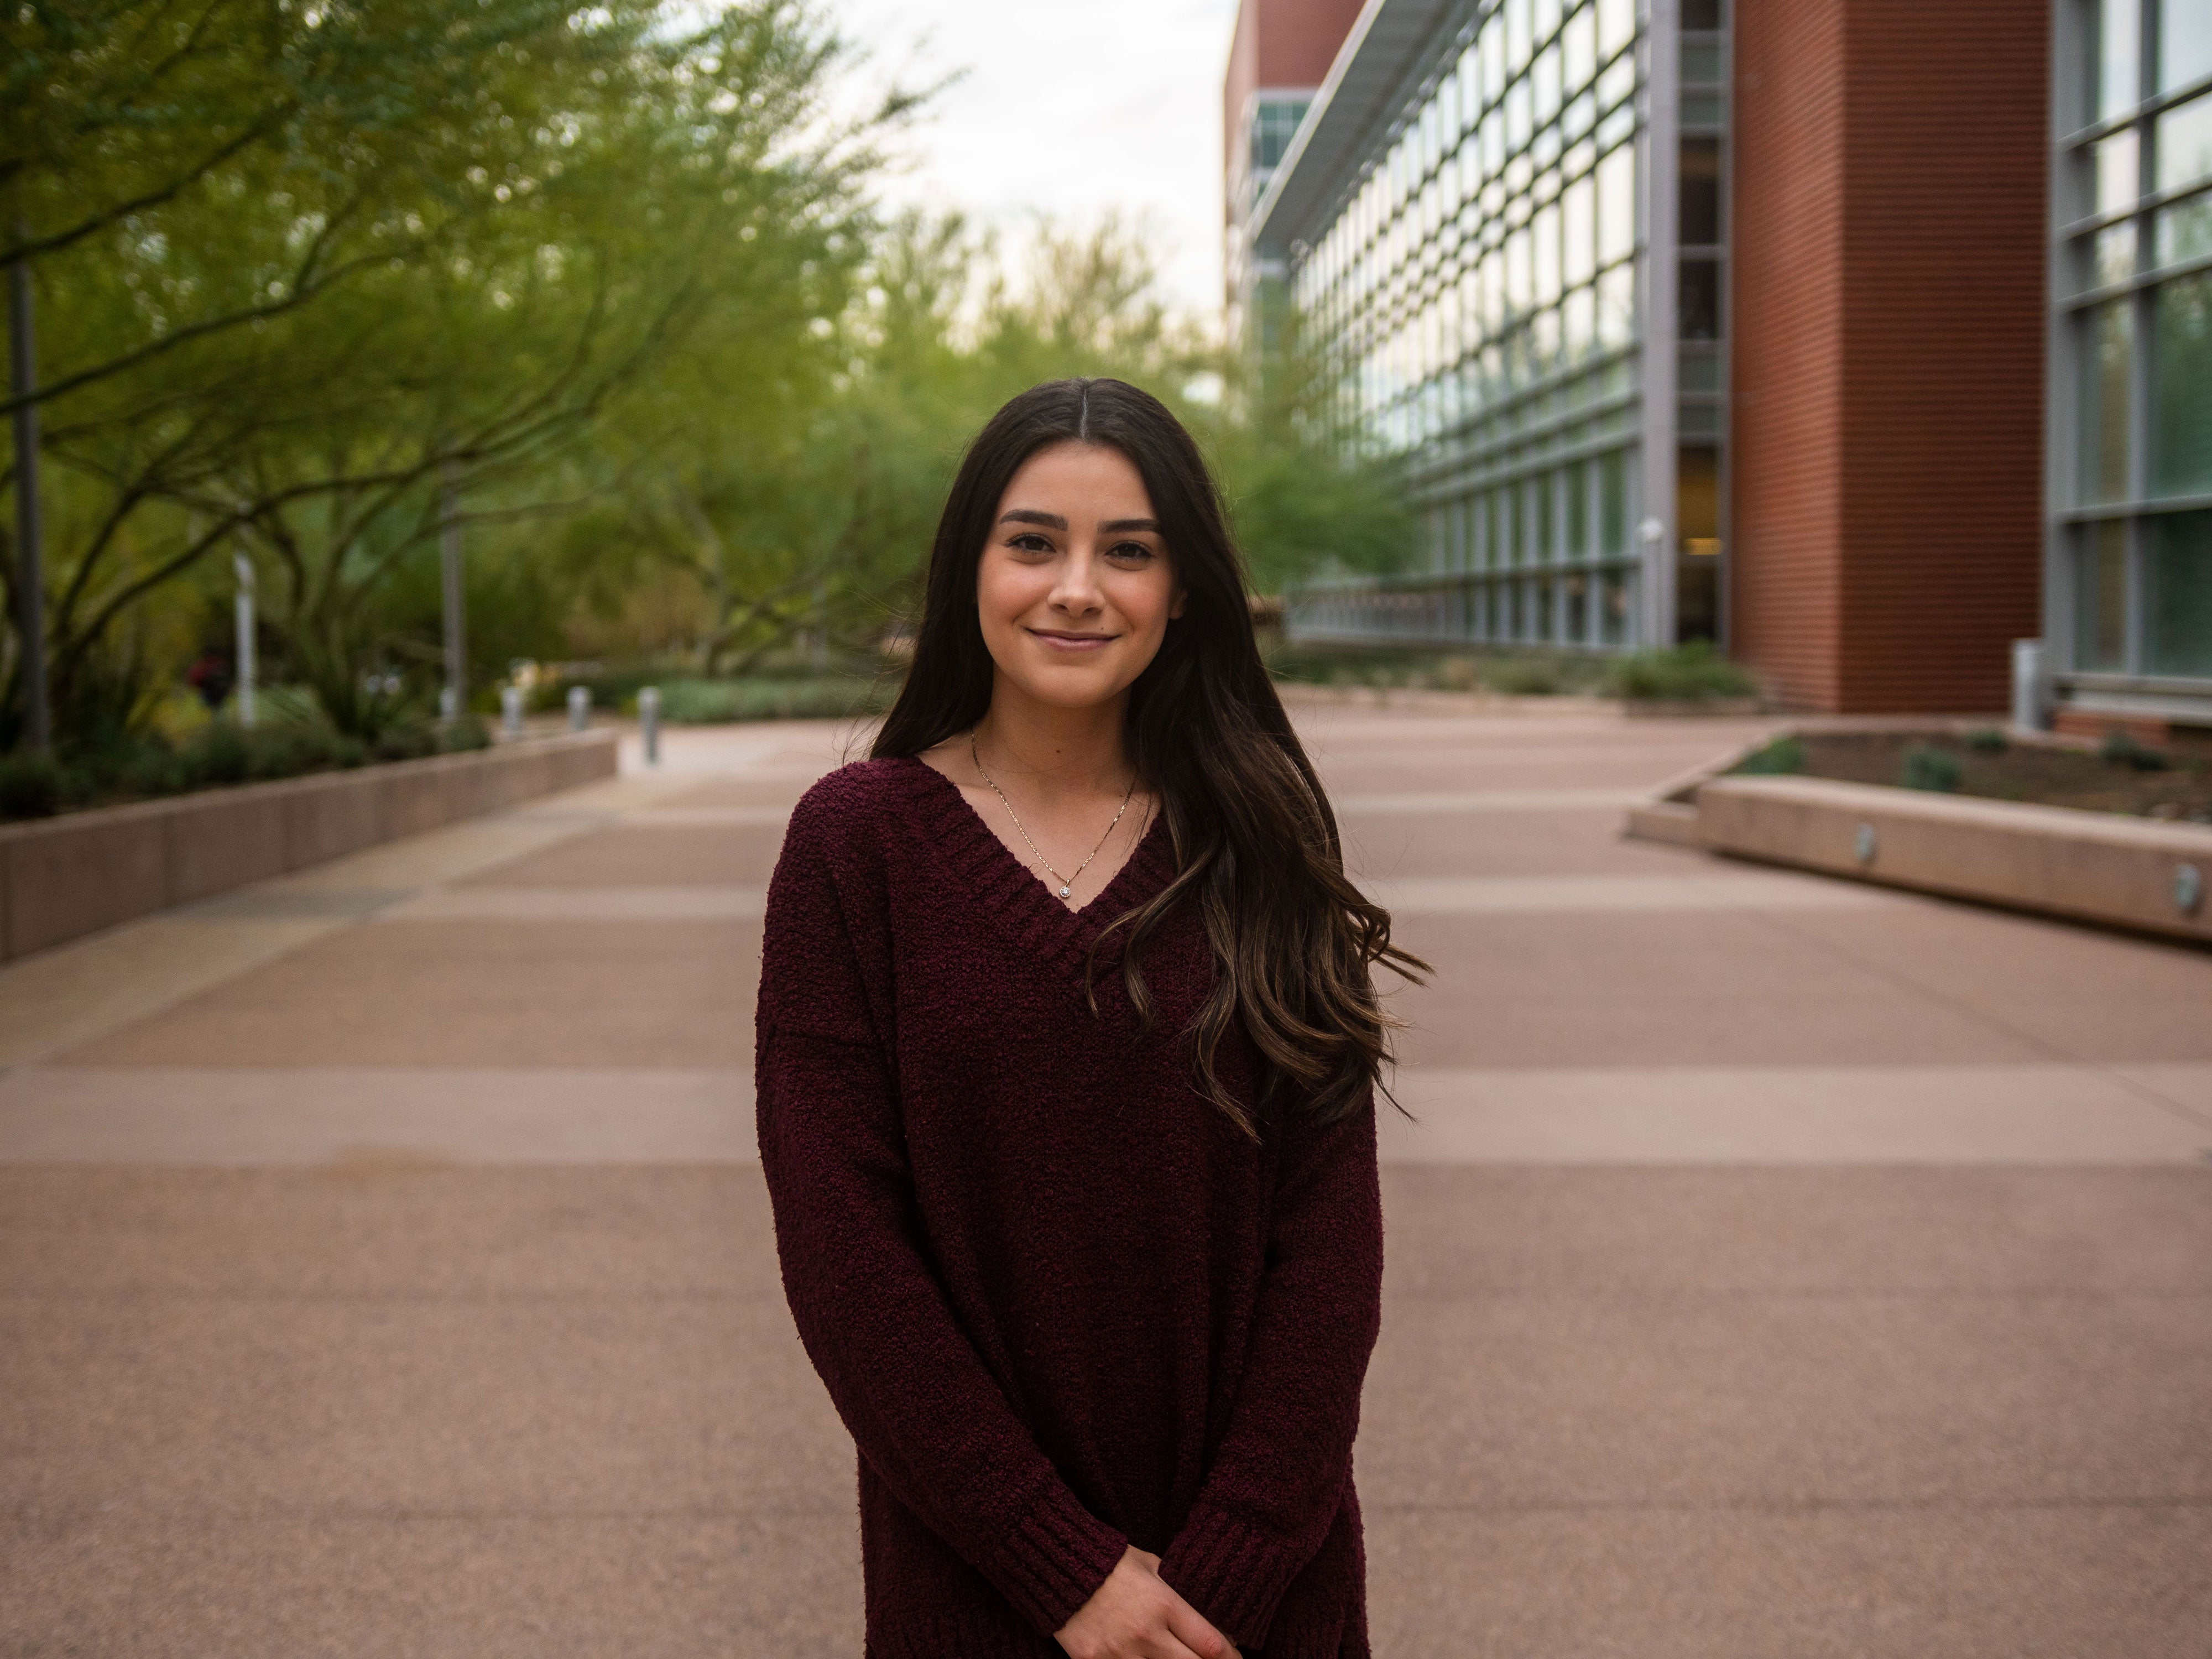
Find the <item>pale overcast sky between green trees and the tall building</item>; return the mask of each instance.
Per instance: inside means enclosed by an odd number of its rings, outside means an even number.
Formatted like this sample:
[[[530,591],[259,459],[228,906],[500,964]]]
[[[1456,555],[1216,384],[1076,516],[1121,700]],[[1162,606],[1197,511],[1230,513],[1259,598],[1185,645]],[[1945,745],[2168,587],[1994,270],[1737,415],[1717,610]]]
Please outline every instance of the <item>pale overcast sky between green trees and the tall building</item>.
[[[1237,0],[827,0],[876,73],[967,75],[907,146],[894,201],[1011,234],[1037,210],[1144,212],[1168,292],[1221,305],[1221,75]]]

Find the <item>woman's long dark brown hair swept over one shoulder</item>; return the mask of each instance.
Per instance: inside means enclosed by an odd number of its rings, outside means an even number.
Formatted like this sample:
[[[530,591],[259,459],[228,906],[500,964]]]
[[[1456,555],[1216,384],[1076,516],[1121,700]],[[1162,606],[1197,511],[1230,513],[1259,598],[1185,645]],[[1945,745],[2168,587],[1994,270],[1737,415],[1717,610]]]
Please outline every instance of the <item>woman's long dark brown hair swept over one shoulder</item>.
[[[1383,1011],[1374,964],[1405,978],[1429,964],[1391,945],[1389,911],[1345,876],[1336,814],[1261,664],[1221,495],[1159,398],[1124,380],[1048,380],[991,416],[945,500],[914,664],[872,752],[920,754],[991,708],[975,566],[1006,484],[1055,442],[1106,445],[1130,460],[1188,595],[1128,697],[1128,757],[1159,796],[1177,865],[1157,898],[1106,929],[1128,929],[1130,1006],[1150,1024],[1137,949],[1175,905],[1194,902],[1217,967],[1190,1029],[1199,1093],[1259,1133],[1254,1110],[1214,1068],[1241,1018],[1263,1064],[1261,1110],[1287,1104],[1323,1124],[1345,1117],[1369,1086],[1389,1095],[1380,1073],[1402,1022]]]

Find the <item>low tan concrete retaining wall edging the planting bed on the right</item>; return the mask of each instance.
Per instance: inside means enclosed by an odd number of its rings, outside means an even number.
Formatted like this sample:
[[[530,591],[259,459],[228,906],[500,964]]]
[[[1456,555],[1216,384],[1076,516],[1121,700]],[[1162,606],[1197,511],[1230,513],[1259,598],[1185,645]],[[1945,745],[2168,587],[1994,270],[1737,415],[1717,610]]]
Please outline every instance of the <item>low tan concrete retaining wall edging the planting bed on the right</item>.
[[[1874,783],[1723,776],[1697,790],[1697,843],[2212,942],[2212,830],[2201,825]]]

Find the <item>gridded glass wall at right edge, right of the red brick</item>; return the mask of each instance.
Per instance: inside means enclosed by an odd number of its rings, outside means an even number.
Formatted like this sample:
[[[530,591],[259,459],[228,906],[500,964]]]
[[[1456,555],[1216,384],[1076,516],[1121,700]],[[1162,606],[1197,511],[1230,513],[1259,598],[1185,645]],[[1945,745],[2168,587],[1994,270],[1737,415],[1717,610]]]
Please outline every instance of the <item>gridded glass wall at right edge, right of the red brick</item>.
[[[2064,4],[2053,646],[2079,688],[2212,692],[2212,4]]]

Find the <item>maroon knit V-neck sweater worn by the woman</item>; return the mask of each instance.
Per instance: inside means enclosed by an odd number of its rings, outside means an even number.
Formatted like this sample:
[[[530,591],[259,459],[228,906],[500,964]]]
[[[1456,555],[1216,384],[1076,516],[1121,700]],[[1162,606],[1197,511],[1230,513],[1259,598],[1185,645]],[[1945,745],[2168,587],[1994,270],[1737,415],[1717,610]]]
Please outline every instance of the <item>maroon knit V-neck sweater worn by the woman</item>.
[[[1164,821],[1068,911],[960,790],[863,761],[768,889],[761,1164],[792,1316],[860,1449],[869,1659],[1037,1659],[1126,1544],[1248,1652],[1367,1655],[1352,1491],[1380,1314],[1374,1102],[1254,1146],[1190,1082],[1212,975],[1117,931]],[[1183,907],[1188,911],[1188,907]],[[1223,1040],[1250,1099],[1254,1055]]]

